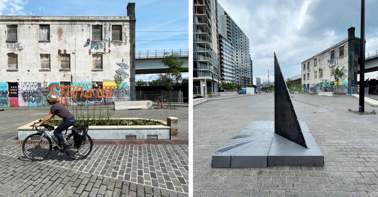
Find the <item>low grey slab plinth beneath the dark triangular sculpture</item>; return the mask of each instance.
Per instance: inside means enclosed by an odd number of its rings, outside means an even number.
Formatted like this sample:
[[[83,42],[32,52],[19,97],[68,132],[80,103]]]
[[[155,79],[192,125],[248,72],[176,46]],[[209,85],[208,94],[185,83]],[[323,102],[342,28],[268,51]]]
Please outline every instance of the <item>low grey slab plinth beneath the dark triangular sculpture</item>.
[[[305,122],[305,148],[274,133],[274,121],[256,121],[230,139],[212,157],[212,167],[323,166],[324,157]]]

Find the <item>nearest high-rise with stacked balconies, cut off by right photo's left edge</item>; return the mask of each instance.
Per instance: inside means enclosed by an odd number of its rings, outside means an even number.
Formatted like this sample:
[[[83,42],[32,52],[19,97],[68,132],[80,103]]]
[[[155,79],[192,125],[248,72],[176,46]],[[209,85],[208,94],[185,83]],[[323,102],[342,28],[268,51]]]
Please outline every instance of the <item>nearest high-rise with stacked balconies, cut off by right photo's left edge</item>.
[[[202,96],[221,82],[217,16],[217,0],[193,0],[193,86]]]

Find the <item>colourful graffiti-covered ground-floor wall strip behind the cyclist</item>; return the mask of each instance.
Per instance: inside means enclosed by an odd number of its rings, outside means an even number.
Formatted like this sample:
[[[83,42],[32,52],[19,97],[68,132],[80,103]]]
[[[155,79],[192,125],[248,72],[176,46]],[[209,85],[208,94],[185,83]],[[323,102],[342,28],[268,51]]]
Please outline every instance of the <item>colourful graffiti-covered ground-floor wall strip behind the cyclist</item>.
[[[43,84],[45,83],[45,84]],[[0,107],[47,106],[48,94],[56,94],[64,105],[104,105],[120,100],[130,100],[128,82],[119,89],[114,82],[0,82]],[[48,84],[48,85],[47,85]]]

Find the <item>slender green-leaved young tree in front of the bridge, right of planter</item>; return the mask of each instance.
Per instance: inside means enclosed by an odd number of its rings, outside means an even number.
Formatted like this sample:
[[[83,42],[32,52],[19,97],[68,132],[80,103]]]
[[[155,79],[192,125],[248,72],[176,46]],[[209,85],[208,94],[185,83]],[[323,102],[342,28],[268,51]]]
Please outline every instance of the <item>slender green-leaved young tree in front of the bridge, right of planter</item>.
[[[173,85],[182,78],[181,69],[184,65],[184,61],[178,61],[178,59],[178,54],[174,53],[169,55],[169,53],[165,52],[164,58],[160,60],[160,63],[168,68],[165,73],[168,80],[164,80],[164,85],[170,90],[170,101],[172,100]],[[169,102],[169,107],[172,108],[171,102]]]

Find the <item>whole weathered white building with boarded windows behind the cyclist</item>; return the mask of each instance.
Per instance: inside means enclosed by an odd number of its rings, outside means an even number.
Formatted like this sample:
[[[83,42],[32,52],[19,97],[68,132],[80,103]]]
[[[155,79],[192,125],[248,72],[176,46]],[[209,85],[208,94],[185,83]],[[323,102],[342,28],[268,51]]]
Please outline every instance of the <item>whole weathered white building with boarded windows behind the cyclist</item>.
[[[134,92],[135,3],[127,4],[127,16],[0,16],[0,21],[0,97],[22,98],[2,105],[42,104],[49,86],[87,91],[112,86],[116,74],[127,95]]]

